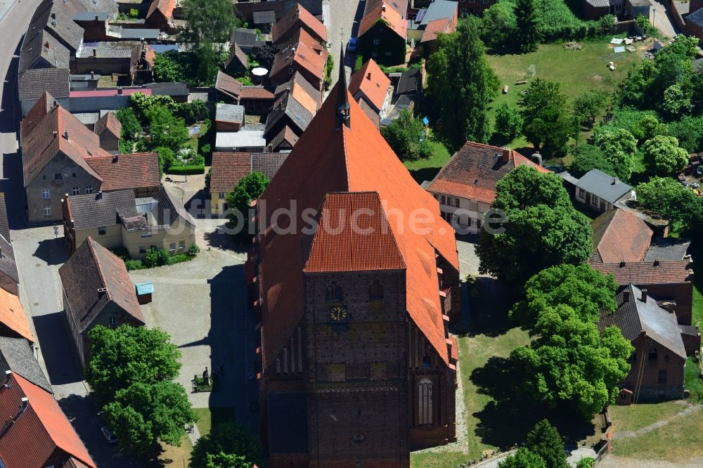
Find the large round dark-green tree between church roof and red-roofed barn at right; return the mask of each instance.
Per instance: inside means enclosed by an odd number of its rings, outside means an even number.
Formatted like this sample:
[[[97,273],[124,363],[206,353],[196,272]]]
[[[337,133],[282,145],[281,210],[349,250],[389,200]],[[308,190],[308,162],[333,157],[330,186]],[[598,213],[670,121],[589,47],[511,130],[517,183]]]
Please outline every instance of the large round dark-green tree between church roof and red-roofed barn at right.
[[[496,185],[494,208],[507,217],[502,233],[482,230],[481,273],[522,283],[549,266],[581,264],[591,256],[591,226],[576,212],[561,179],[520,166]],[[491,219],[486,219],[494,226]],[[491,229],[492,230],[492,229]]]

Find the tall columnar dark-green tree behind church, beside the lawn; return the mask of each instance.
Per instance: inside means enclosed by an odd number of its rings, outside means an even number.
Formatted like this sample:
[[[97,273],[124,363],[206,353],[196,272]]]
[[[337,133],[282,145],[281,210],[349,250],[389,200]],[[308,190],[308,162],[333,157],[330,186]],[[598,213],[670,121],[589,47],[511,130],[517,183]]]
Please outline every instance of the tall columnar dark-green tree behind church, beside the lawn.
[[[467,140],[486,142],[488,103],[498,78],[486,62],[477,20],[460,21],[455,32],[440,34],[437,52],[427,61],[428,86],[441,113],[439,134],[453,150]]]

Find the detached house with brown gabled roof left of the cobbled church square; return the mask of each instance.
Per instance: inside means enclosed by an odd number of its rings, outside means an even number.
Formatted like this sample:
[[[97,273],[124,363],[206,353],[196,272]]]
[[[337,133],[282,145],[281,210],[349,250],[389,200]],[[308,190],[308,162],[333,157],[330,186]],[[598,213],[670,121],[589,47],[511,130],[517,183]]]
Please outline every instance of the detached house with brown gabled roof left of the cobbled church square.
[[[87,238],[73,252],[58,275],[63,310],[83,365],[90,360],[88,334],[96,325],[144,325],[124,261],[93,238]]]

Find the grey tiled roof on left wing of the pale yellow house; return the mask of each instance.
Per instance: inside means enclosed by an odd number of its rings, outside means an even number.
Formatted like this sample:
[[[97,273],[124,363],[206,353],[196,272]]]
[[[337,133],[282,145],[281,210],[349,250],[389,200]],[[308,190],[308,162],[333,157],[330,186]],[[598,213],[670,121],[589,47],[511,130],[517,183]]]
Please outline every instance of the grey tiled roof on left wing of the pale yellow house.
[[[120,222],[120,216],[138,216],[134,190],[72,195],[68,202],[77,230],[114,226]]]

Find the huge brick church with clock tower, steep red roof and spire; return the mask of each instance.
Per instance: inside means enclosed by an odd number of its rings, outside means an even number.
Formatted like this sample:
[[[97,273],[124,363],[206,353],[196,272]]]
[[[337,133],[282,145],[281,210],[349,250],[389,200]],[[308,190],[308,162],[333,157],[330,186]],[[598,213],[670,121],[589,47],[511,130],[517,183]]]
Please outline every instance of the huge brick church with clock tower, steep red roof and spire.
[[[420,230],[390,217],[439,206],[351,102],[343,70],[330,96],[257,202],[245,271],[262,320],[262,439],[273,468],[409,467],[411,448],[456,440],[456,242],[439,216]],[[290,200],[298,228],[280,232],[271,214]]]

